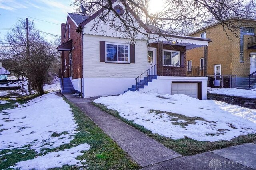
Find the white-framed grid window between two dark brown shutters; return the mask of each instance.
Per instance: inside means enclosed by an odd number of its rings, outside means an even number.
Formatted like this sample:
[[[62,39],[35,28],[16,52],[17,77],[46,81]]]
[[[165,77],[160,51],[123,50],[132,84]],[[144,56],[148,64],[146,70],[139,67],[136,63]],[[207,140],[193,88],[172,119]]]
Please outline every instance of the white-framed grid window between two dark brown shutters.
[[[129,45],[106,43],[106,62],[130,62],[130,49]]]

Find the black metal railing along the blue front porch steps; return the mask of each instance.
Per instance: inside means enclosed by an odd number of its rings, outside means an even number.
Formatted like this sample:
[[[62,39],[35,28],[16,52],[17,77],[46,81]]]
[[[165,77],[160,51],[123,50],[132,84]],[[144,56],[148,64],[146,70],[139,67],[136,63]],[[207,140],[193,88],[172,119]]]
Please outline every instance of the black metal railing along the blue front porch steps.
[[[140,74],[135,78],[136,80],[136,90],[139,90],[140,87],[144,86],[147,82],[156,77],[156,67],[157,64]]]

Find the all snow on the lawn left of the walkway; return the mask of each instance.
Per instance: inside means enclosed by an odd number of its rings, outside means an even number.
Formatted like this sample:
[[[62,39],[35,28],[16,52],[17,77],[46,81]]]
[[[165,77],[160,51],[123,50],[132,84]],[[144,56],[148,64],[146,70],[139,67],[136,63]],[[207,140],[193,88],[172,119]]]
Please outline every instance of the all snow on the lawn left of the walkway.
[[[70,143],[78,133],[77,128],[70,106],[54,93],[45,94],[18,108],[0,112],[0,151],[22,148],[34,149],[37,154],[44,153],[46,150],[42,149],[53,149]],[[45,169],[43,166],[54,168],[64,164],[79,166],[81,161],[75,158],[89,148],[88,144],[81,144],[71,149],[51,152],[19,162],[16,168]]]

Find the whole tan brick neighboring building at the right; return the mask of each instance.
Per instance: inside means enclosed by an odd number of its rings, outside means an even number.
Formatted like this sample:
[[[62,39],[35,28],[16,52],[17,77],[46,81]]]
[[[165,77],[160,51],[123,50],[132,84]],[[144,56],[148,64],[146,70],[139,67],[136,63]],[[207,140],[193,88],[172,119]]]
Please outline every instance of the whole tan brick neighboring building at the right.
[[[215,86],[220,86],[220,80],[223,81],[220,75],[236,75],[237,87],[248,88],[248,75],[251,74],[250,85],[256,80],[256,19],[244,18],[238,21],[236,18],[231,18],[230,20],[238,22],[235,33],[239,37],[230,31],[225,32],[220,23],[208,25],[189,33],[188,36],[212,39],[212,43],[208,46],[207,74],[214,75]],[[202,51],[202,48],[189,50],[186,62],[203,67]],[[232,87],[235,87],[234,85],[233,80]]]

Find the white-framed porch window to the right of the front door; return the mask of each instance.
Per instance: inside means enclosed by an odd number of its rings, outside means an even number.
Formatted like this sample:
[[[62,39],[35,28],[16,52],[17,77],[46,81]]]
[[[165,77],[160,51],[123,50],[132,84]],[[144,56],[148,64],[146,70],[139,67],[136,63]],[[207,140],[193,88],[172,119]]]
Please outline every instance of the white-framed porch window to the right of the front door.
[[[180,51],[163,50],[164,66],[180,66]]]

